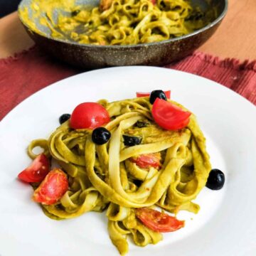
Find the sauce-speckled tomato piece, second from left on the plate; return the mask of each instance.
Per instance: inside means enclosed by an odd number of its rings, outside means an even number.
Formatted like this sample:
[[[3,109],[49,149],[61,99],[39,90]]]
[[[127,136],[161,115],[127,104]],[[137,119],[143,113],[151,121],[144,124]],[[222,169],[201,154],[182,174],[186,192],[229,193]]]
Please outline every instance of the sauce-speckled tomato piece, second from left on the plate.
[[[68,191],[68,178],[62,170],[55,168],[36,188],[33,201],[51,205],[57,203],[66,191]]]

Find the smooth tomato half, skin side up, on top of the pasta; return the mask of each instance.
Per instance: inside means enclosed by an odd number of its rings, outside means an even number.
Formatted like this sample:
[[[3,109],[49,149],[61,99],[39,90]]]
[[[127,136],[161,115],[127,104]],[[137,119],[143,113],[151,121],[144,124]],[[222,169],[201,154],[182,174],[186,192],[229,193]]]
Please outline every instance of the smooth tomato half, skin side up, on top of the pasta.
[[[110,114],[96,102],[84,102],[75,107],[70,117],[73,129],[94,129],[110,122]]]

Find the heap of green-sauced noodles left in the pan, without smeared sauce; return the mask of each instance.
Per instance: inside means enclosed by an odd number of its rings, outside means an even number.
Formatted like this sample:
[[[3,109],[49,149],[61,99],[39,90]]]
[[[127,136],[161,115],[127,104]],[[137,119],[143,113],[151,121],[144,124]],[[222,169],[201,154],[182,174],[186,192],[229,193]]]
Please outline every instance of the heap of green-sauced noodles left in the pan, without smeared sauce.
[[[59,16],[53,37],[78,43],[134,45],[168,40],[191,33],[213,19],[186,0],[102,0],[92,10],[76,8]]]

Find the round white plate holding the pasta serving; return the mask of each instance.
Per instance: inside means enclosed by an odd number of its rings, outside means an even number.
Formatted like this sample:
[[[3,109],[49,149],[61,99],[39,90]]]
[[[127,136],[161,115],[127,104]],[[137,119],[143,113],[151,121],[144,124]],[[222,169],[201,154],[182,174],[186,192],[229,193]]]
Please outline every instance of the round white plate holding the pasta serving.
[[[165,68],[107,68],[76,75],[37,92],[0,124],[0,255],[118,255],[107,235],[104,213],[72,220],[46,217],[31,201],[32,189],[16,179],[30,159],[32,139],[46,138],[60,114],[80,102],[130,98],[136,91],[171,89],[171,98],[198,117],[214,168],[225,187],[204,188],[197,215],[180,213],[186,227],[164,235],[157,245],[129,255],[255,255],[256,110],[235,92],[196,75]]]

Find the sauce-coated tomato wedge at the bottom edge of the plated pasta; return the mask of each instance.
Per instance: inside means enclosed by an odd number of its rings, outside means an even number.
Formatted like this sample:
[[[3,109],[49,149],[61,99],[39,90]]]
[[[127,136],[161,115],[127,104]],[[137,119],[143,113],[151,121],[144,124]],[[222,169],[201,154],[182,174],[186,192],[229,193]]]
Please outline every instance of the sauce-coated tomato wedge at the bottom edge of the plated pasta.
[[[135,214],[147,228],[159,233],[176,231],[185,225],[184,220],[177,220],[166,213],[149,208],[138,208]]]

